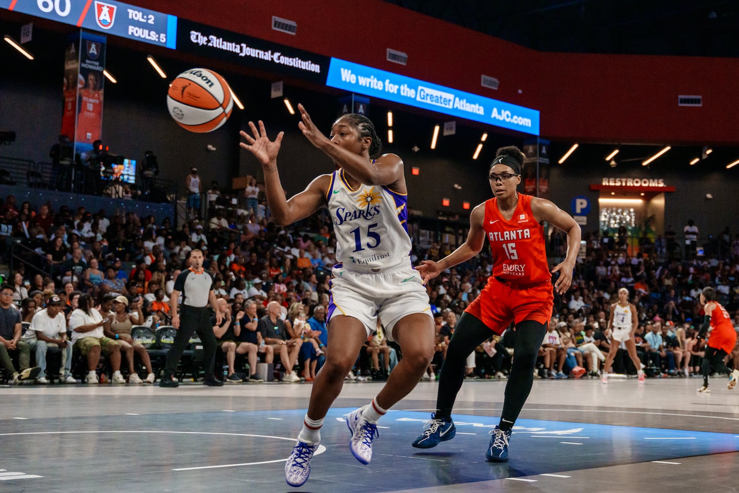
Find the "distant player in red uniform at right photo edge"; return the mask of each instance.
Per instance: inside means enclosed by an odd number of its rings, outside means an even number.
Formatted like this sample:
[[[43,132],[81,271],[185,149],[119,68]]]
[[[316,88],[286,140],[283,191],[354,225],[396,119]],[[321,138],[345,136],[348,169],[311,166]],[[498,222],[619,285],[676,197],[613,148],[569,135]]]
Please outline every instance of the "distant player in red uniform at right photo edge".
[[[708,337],[706,353],[703,356],[703,366],[701,367],[701,370],[703,370],[703,387],[698,389],[698,392],[711,392],[708,387],[708,375],[711,373],[711,367],[720,373],[729,375],[729,382],[726,387],[732,390],[739,381],[739,370],[729,370],[723,364],[723,358],[726,358],[726,355],[734,350],[737,332],[734,330],[729,312],[721,306],[721,303],[716,301],[716,290],[714,288],[705,288],[701,292],[700,299],[705,319],[703,325],[701,325],[701,330],[698,332],[698,337],[705,337],[708,327],[713,327],[713,329]]]

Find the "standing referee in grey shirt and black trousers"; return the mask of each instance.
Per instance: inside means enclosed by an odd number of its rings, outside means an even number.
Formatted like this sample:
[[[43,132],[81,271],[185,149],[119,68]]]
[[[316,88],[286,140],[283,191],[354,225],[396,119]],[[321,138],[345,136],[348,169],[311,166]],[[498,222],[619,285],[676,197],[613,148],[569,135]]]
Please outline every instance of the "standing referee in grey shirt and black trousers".
[[[180,327],[180,315],[177,314],[177,299],[183,295],[182,316],[183,322]],[[205,350],[205,385],[211,387],[219,387],[223,382],[218,380],[213,374],[216,358],[216,336],[213,333],[213,324],[211,324],[211,310],[208,309],[208,302],[216,312],[216,324],[221,323],[221,313],[216,307],[216,294],[213,290],[213,278],[210,273],[202,269],[202,251],[193,250],[190,252],[190,268],[183,271],[174,281],[174,289],[169,296],[169,305],[172,313],[172,326],[177,329],[177,336],[174,336],[174,343],[167,353],[167,362],[164,365],[164,374],[159,381],[160,387],[177,387],[180,382],[174,380],[177,364],[180,357],[187,346],[188,341],[193,333],[197,332],[202,341],[203,350]]]

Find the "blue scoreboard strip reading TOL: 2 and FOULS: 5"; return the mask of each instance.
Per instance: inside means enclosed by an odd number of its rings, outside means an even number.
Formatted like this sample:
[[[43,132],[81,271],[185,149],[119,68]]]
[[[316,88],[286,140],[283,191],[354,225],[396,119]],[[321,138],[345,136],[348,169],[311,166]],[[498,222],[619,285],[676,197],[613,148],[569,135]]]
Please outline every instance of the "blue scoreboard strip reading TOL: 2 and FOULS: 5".
[[[0,0],[0,8],[173,50],[177,47],[177,16],[120,1]]]

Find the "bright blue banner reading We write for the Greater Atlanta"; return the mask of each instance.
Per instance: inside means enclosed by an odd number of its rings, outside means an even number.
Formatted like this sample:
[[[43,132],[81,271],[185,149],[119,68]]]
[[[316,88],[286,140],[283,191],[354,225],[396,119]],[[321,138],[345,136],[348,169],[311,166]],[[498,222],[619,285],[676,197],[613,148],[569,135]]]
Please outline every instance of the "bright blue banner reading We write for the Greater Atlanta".
[[[331,58],[326,85],[395,103],[430,109],[504,129],[539,135],[539,111],[459,89]]]

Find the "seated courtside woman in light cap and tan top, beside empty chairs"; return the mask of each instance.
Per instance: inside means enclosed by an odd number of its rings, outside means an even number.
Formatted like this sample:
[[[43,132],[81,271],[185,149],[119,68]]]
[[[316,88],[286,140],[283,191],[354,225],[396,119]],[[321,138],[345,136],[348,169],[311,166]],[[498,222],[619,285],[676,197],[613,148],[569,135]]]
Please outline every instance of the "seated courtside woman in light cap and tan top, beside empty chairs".
[[[129,384],[153,384],[154,372],[151,370],[151,360],[146,348],[139,341],[134,341],[131,336],[132,329],[135,325],[142,325],[144,316],[141,311],[143,306],[143,298],[139,298],[132,305],[132,310],[136,313],[128,313],[129,299],[126,296],[117,296],[113,299],[113,313],[111,316],[110,327],[103,327],[103,332],[110,339],[115,339],[120,344],[120,352],[126,355],[129,360]],[[141,380],[134,370],[134,353],[139,356],[143,366],[146,368],[146,378]]]

